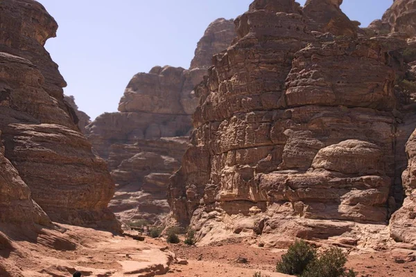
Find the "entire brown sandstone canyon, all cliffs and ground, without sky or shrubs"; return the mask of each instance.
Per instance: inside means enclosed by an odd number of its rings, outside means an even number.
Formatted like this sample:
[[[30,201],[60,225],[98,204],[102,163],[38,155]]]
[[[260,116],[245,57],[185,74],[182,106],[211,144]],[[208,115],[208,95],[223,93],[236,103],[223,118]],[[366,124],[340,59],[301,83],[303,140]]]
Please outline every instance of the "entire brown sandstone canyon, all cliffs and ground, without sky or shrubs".
[[[91,120],[57,21],[1,0],[0,277],[284,276],[299,240],[416,276],[416,0],[392,2],[361,28],[343,0],[254,0]]]

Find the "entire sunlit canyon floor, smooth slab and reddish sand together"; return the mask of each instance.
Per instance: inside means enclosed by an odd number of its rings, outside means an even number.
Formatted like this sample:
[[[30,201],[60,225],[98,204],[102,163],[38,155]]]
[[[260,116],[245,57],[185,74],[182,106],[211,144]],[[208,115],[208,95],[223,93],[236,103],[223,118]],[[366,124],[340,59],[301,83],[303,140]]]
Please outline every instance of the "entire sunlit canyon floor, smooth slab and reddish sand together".
[[[130,232],[130,235],[137,233]],[[5,236],[0,238],[4,246]],[[243,239],[190,247],[182,242],[167,244],[163,238],[145,237],[144,241],[138,241],[128,235],[60,224],[55,225],[55,231],[42,231],[35,237],[26,233],[13,240],[9,242],[15,251],[10,252],[7,247],[0,249],[0,276],[67,277],[75,270],[81,271],[83,276],[96,277],[154,274],[250,277],[257,271],[261,271],[262,276],[285,276],[274,270],[286,250],[250,246],[248,240]],[[239,258],[247,262],[239,262]],[[347,267],[354,269],[357,276],[365,277],[407,277],[416,272],[415,262],[395,258],[397,253],[390,251],[351,251]],[[183,260],[187,260],[186,265],[182,264]],[[10,274],[1,275],[2,267]]]

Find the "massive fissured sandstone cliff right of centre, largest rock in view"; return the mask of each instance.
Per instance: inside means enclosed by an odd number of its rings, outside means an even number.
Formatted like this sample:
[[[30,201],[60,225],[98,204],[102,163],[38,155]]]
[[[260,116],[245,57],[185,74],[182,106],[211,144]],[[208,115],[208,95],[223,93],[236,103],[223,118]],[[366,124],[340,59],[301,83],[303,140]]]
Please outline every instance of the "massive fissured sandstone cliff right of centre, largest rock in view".
[[[205,241],[254,231],[281,247],[382,233],[403,202],[416,127],[395,87],[406,41],[357,39],[341,3],[256,0],[236,19],[238,39],[196,89],[192,145],[169,187],[173,223]]]

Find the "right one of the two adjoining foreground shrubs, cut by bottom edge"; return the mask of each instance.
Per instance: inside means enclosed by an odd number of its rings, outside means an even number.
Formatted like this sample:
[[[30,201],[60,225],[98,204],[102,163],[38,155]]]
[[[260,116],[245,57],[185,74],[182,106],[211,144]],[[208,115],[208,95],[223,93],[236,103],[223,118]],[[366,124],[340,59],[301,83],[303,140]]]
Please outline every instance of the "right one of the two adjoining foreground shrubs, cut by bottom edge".
[[[333,247],[315,258],[306,267],[302,277],[355,277],[354,271],[345,268],[346,262],[347,255]]]

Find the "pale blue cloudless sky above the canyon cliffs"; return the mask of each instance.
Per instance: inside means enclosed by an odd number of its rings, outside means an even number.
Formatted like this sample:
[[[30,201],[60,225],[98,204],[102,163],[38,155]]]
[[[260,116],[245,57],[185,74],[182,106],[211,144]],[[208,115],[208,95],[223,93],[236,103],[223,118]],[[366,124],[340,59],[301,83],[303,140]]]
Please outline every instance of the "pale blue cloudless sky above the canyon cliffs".
[[[116,111],[129,80],[166,64],[189,68],[196,44],[218,17],[235,18],[252,0],[37,0],[58,21],[46,49],[67,80],[64,89],[93,119]],[[305,0],[299,1],[302,5]],[[367,26],[392,0],[344,0],[350,19]]]

